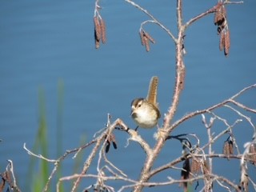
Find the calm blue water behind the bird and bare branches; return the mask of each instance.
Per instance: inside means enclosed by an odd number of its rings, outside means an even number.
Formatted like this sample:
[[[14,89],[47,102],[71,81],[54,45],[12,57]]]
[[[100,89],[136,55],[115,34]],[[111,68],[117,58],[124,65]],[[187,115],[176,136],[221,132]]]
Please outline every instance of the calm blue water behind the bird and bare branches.
[[[176,34],[174,2],[138,3]],[[184,20],[207,10],[214,3],[183,2]],[[136,97],[146,96],[153,75],[160,79],[158,102],[162,117],[170,106],[175,70],[174,43],[170,37],[158,26],[147,25],[145,29],[154,37],[156,44],[146,53],[138,38],[140,22],[148,19],[146,15],[122,1],[102,1],[101,6],[101,14],[106,21],[107,43],[95,50],[93,1],[0,2],[0,172],[6,167],[6,159],[13,160],[18,184],[23,191],[27,190],[24,189],[23,178],[28,171],[30,156],[22,146],[24,142],[30,148],[34,144],[38,130],[39,87],[45,90],[46,95],[49,158],[58,158],[55,140],[60,135],[56,129],[60,80],[64,83],[63,152],[78,147],[82,135],[86,135],[84,142],[89,142],[92,135],[105,126],[107,113],[113,120],[122,118],[127,125],[135,127],[130,119],[130,102]],[[175,119],[222,102],[256,82],[256,26],[251,22],[256,16],[255,6],[253,0],[227,6],[231,37],[228,58],[218,50],[217,29],[212,15],[188,28],[186,83]],[[255,98],[256,91],[251,90],[239,101],[255,108]],[[229,118],[230,125],[238,118],[228,110],[219,113]],[[250,118],[255,122],[255,115],[250,114]],[[162,119],[159,124],[162,125]],[[253,129],[246,122],[240,125],[234,129],[234,134],[242,135],[237,142],[239,150],[243,151],[242,144],[250,141]],[[222,123],[218,123],[213,132],[218,134],[224,128]],[[139,133],[151,146],[154,145],[154,130],[139,130]],[[207,141],[201,117],[174,130],[174,134],[182,133],[198,134],[202,145]],[[118,150],[111,150],[109,158],[130,177],[138,178],[142,166],[139,163],[145,158],[144,153],[137,143],[131,142],[130,146],[124,147],[126,134],[116,132],[116,137]],[[225,139],[220,139],[214,146],[216,153],[222,152]],[[178,142],[168,142],[155,167],[180,154]],[[74,162],[70,159],[66,162],[65,175],[72,174],[72,168],[68,169],[74,166]],[[131,162],[136,162],[136,165]],[[216,162],[216,172],[222,170],[232,181],[238,181],[239,176],[230,175],[230,170],[238,172],[239,162],[230,161],[230,167],[223,167],[226,163],[226,160]],[[250,176],[255,178],[253,174],[254,171]],[[152,181],[166,181],[166,175],[179,178],[180,172],[167,170]]]

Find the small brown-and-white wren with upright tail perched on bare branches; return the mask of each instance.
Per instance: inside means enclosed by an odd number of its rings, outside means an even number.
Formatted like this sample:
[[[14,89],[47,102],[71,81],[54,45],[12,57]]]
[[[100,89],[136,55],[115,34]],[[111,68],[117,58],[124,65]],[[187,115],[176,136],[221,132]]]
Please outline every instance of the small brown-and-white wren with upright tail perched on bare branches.
[[[139,127],[153,128],[161,117],[158,110],[158,77],[154,76],[150,80],[150,86],[146,98],[135,98],[131,102],[131,117]],[[138,129],[138,126],[135,130]]]

